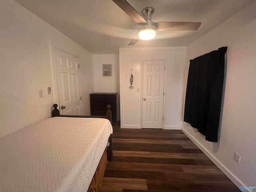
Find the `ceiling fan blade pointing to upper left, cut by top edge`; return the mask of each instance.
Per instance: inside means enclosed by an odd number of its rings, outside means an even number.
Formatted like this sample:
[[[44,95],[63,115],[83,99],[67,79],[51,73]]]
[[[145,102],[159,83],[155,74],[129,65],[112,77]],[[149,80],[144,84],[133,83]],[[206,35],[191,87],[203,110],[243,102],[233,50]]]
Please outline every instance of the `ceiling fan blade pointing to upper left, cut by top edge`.
[[[130,18],[137,24],[147,24],[147,21],[126,1],[126,0],[112,0],[114,1]]]

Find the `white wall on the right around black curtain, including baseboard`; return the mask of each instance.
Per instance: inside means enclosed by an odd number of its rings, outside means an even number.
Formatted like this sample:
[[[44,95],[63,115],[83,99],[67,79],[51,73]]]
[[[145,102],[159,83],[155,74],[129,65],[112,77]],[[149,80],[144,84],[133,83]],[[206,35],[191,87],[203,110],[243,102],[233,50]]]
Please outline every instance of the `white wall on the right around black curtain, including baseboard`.
[[[256,3],[187,47],[184,80],[190,59],[222,46],[228,50],[219,142],[206,141],[186,122],[182,129],[238,187],[256,186]],[[234,152],[241,155],[240,164]]]

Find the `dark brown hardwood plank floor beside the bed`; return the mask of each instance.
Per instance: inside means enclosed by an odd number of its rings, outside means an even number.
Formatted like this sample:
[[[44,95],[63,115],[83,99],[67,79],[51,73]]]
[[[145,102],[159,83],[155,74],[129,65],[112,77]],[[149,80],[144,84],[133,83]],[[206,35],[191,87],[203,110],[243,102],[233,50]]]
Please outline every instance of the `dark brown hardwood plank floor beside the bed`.
[[[239,192],[181,131],[120,129],[113,134],[101,192]]]

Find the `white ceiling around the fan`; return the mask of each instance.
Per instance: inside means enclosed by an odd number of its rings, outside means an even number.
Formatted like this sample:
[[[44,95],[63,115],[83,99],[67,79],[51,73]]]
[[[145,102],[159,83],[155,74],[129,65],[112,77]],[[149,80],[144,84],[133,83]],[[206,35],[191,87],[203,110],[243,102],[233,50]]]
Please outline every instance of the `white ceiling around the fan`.
[[[155,12],[153,22],[202,22],[197,31],[157,32],[154,40],[128,46],[136,24],[112,0],[16,0],[92,54],[118,54],[123,47],[188,46],[253,0],[127,0],[141,14]]]

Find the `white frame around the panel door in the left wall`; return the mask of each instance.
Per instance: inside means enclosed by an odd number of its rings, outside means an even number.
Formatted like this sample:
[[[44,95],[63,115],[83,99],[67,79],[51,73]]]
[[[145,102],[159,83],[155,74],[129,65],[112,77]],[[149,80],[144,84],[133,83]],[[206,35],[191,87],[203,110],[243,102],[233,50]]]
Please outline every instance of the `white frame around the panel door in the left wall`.
[[[57,86],[57,76],[56,76],[56,63],[55,63],[55,59],[54,59],[54,48],[57,48],[59,50],[62,50],[68,54],[71,54],[75,57],[78,58],[78,64],[80,64],[79,62],[79,58],[80,56],[78,54],[74,54],[64,48],[59,48],[58,46],[55,46],[53,44],[50,43],[50,56],[51,56],[51,63],[52,63],[52,80],[53,80],[53,89],[54,90],[54,100],[55,100],[55,103],[58,104],[58,107],[59,107],[59,110],[60,110],[60,103],[59,103],[59,94],[58,94],[58,86]],[[80,70],[79,70],[79,76],[81,78],[81,74],[80,74]],[[82,89],[81,89],[81,79],[79,79],[80,81],[80,92],[82,94]],[[81,100],[81,112],[82,112],[82,100]]]

